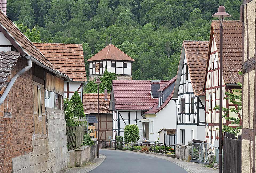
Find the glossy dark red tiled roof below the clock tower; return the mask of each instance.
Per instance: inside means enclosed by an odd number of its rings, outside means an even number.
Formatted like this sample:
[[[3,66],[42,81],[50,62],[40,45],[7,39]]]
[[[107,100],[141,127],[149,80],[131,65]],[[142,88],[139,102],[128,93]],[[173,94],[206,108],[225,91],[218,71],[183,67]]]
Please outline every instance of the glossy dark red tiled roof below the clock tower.
[[[168,81],[152,83],[149,80],[113,80],[112,90],[116,99],[117,110],[149,110],[158,98],[151,97],[151,84],[160,84],[160,88]]]

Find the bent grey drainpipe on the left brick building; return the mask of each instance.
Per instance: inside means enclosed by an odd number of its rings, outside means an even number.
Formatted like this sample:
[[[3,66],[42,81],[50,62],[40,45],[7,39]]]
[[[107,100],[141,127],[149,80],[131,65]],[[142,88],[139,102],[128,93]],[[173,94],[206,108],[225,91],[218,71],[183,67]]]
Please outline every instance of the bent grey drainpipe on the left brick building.
[[[5,98],[7,97],[7,95],[9,94],[11,88],[13,87],[13,84],[15,83],[15,81],[26,71],[29,71],[29,69],[32,68],[32,59],[31,59],[31,55],[27,55],[26,56],[27,59],[27,66],[24,67],[23,69],[21,69],[16,75],[14,75],[14,77],[11,79],[11,81],[9,82],[9,84],[7,85],[5,91],[3,92],[2,96],[0,97],[0,105],[3,104],[3,101],[5,101]]]

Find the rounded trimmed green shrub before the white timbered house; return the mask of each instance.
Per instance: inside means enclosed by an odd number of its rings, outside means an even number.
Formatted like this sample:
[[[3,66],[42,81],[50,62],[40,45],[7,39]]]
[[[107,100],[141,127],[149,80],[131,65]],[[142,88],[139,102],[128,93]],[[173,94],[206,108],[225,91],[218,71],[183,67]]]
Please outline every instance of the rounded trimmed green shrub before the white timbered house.
[[[139,128],[135,124],[125,126],[124,130],[125,142],[136,142],[139,140]]]

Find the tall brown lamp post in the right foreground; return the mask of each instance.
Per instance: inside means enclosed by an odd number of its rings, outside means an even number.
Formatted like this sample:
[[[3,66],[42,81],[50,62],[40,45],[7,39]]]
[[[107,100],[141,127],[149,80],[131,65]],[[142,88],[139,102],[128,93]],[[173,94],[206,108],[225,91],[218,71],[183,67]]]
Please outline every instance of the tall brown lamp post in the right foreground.
[[[219,27],[219,173],[222,173],[222,46],[223,46],[223,21],[225,17],[230,17],[225,11],[224,6],[219,6],[218,12],[212,15],[218,17],[220,21]]]

